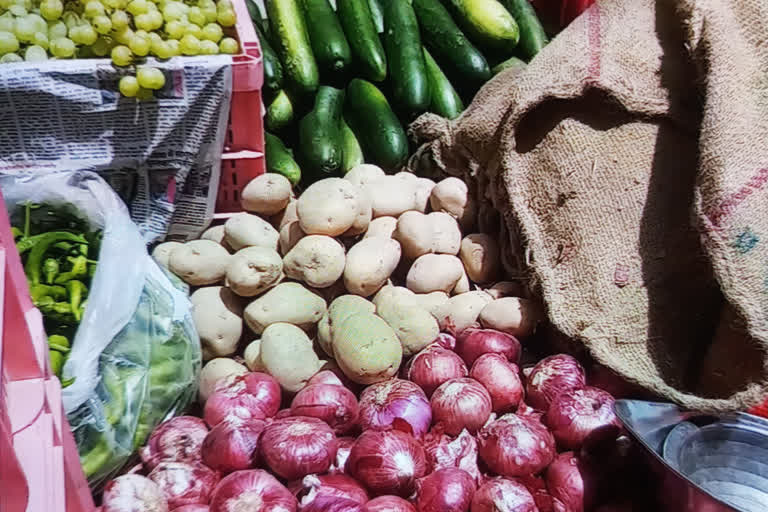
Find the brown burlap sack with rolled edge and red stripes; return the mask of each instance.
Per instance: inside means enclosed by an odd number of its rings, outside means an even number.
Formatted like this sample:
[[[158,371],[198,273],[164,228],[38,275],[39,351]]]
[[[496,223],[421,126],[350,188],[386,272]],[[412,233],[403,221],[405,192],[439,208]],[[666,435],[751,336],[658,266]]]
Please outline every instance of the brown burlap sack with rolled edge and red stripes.
[[[412,126],[410,170],[470,183],[555,332],[692,409],[768,392],[767,20],[600,1],[456,121]]]

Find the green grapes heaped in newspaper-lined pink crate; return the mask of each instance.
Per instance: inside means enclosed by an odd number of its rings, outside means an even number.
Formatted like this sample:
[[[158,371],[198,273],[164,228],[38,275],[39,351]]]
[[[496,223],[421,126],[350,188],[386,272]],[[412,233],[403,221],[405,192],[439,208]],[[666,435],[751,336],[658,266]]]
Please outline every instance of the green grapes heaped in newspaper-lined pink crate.
[[[0,63],[48,58],[107,57],[131,66],[147,56],[235,54],[230,0],[0,0]],[[165,85],[142,66],[120,80],[129,97],[151,96]]]

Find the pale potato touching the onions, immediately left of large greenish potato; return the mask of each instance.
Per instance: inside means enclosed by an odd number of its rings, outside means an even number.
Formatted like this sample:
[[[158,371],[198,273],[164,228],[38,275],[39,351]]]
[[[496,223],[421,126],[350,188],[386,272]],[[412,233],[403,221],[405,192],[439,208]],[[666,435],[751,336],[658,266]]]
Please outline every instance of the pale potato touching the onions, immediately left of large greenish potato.
[[[289,393],[300,391],[326,363],[315,354],[307,334],[288,323],[274,323],[264,329],[259,349],[264,371]]]

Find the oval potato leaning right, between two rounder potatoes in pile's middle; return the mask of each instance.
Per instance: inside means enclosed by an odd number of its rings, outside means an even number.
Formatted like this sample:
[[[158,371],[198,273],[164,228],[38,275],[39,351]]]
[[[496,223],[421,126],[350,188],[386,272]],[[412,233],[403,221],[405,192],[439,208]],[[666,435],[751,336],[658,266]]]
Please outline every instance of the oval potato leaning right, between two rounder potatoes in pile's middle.
[[[344,286],[368,297],[378,292],[400,261],[400,244],[391,238],[363,238],[347,253]]]

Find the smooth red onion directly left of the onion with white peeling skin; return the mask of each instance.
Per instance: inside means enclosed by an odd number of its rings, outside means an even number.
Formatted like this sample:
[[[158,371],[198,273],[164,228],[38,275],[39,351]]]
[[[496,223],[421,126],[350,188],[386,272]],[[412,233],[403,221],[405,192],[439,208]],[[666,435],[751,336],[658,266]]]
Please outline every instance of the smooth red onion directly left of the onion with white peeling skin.
[[[291,414],[321,419],[337,434],[345,434],[357,423],[357,398],[338,384],[311,384],[293,398]]]

